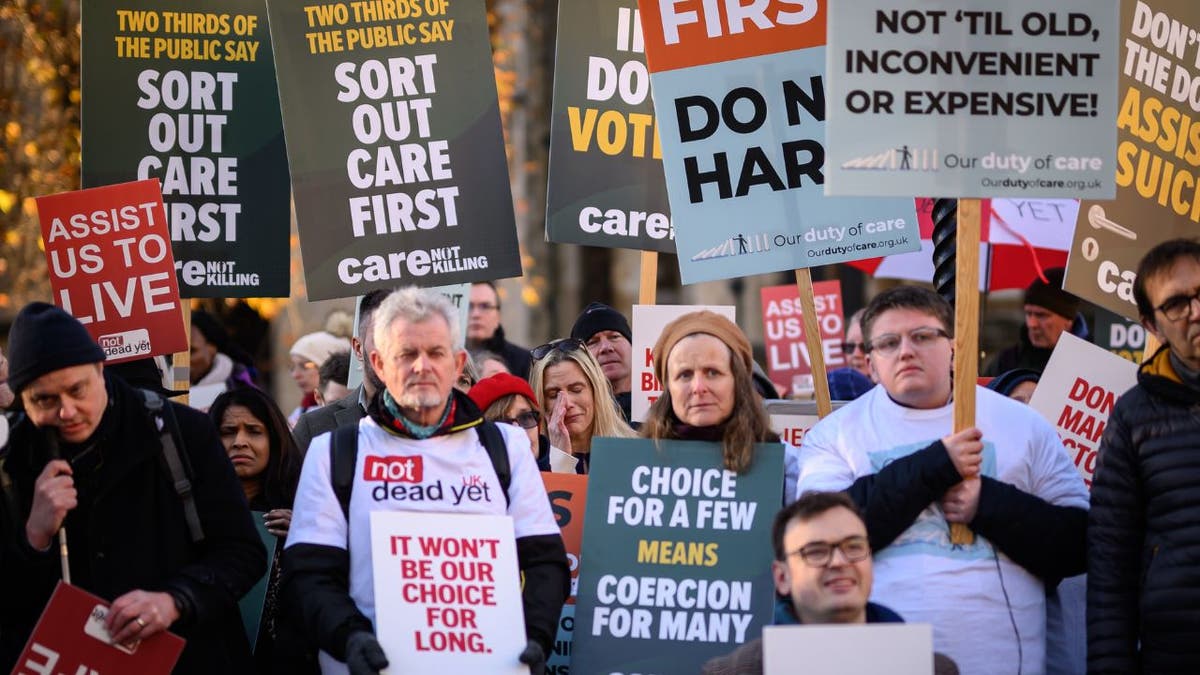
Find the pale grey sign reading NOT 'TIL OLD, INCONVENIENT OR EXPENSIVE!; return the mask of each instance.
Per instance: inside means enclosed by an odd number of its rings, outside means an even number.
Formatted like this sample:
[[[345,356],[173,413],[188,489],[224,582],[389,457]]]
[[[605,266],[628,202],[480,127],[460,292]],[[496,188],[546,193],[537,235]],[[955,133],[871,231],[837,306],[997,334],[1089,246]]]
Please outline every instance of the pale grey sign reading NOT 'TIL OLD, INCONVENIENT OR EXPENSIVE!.
[[[830,2],[827,192],[1112,197],[1117,2]]]

